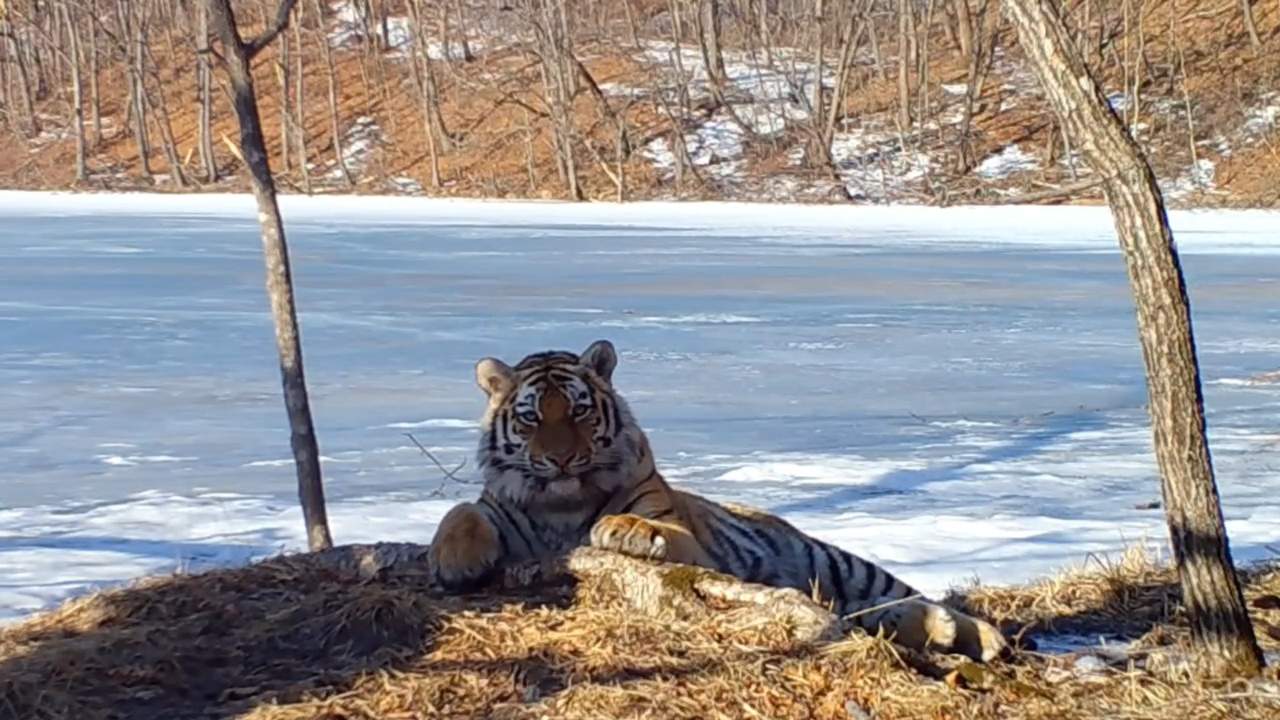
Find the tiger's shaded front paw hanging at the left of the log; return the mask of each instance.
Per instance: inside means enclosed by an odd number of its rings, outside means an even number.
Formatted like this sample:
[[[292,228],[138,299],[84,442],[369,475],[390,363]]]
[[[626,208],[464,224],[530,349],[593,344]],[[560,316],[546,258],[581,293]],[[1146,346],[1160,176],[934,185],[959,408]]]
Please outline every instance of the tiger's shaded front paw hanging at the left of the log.
[[[500,553],[498,529],[474,505],[463,503],[440,520],[428,557],[440,585],[466,591],[489,579]]]

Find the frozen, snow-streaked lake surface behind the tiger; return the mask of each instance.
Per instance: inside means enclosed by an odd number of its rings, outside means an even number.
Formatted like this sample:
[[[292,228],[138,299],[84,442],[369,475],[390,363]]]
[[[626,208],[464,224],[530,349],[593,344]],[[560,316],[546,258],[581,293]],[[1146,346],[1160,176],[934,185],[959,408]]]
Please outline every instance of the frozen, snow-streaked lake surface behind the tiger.
[[[285,197],[339,542],[476,488],[472,364],[599,337],[684,487],[938,592],[1164,537],[1085,208]],[[1280,543],[1280,214],[1175,213],[1240,560]],[[302,544],[252,202],[0,193],[0,619]]]

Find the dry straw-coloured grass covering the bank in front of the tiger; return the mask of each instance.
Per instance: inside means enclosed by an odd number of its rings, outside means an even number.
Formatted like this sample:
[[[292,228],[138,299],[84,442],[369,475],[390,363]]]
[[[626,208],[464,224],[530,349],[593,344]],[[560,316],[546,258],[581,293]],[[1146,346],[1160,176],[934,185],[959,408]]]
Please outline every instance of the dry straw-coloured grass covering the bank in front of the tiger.
[[[1280,566],[1245,573],[1280,648]],[[1037,632],[1121,632],[1140,650],[1085,671],[1021,652],[982,669],[865,635],[796,646],[741,612],[645,616],[604,585],[444,597],[310,556],[151,579],[0,630],[0,717],[1275,717],[1270,680],[1201,682],[1172,578],[1132,553],[954,598]],[[1164,661],[1157,662],[1161,657]]]

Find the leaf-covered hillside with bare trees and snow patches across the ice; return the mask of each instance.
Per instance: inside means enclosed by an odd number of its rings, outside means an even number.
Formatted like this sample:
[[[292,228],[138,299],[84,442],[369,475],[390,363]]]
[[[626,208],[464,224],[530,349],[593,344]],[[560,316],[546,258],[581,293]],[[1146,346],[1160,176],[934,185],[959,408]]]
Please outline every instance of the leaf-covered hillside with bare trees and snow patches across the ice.
[[[1234,1],[1068,4],[1174,204],[1280,204],[1270,181],[1280,172],[1280,5],[1257,3],[1245,23]],[[177,0],[58,6],[6,5],[0,186],[242,187],[216,69],[201,129],[196,10]],[[262,5],[236,6],[246,28],[261,23]],[[1096,196],[997,6],[303,1],[256,76],[273,167],[292,192]]]

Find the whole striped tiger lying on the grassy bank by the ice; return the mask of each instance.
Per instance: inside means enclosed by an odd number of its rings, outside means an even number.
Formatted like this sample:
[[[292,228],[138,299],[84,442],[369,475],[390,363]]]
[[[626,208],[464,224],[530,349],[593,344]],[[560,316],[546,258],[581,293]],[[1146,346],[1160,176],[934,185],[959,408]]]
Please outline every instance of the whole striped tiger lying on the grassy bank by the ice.
[[[672,488],[613,388],[617,363],[600,340],[581,355],[476,364],[488,397],[476,454],[484,487],[436,528],[429,564],[438,585],[472,589],[504,564],[590,546],[817,592],[855,625],[909,648],[977,661],[1009,652],[989,623],[925,598],[873,562],[768,512]]]

